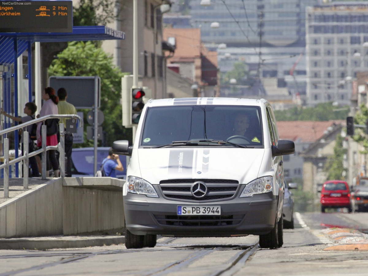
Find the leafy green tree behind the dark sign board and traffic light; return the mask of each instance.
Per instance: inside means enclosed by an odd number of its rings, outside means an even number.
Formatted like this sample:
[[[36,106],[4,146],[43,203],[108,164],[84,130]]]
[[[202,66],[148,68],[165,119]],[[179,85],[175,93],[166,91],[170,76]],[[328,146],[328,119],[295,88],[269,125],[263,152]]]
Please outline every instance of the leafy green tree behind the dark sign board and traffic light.
[[[120,139],[131,139],[131,130],[122,126],[121,121],[121,78],[122,73],[113,66],[112,57],[92,42],[69,42],[68,47],[57,55],[49,67],[50,76],[99,76],[101,79],[101,106],[105,115],[102,124],[107,132],[107,145]],[[84,110],[84,118],[89,110]],[[85,129],[88,123],[84,122]],[[85,134],[86,135],[86,134]],[[93,140],[87,140],[81,147],[93,146]]]

